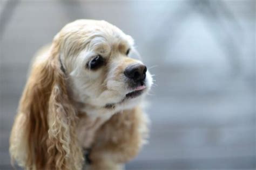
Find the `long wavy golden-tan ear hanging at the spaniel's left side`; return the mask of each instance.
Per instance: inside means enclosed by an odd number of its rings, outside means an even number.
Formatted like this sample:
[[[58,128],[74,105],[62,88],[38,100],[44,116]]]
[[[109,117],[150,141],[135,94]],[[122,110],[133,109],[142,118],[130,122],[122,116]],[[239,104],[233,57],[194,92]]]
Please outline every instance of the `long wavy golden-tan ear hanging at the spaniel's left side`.
[[[56,36],[47,59],[34,62],[11,132],[11,157],[28,169],[82,168],[76,110],[60,69],[59,46]]]

